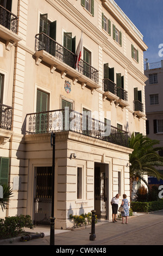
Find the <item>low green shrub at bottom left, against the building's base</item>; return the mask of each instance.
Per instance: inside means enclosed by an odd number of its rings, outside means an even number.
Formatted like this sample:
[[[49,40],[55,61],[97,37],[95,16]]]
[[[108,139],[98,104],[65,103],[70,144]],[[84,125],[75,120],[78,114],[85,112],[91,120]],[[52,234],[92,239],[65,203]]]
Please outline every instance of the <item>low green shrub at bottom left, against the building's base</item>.
[[[0,219],[0,238],[16,237],[23,231],[23,228],[33,229],[33,221],[29,215],[5,217]]]

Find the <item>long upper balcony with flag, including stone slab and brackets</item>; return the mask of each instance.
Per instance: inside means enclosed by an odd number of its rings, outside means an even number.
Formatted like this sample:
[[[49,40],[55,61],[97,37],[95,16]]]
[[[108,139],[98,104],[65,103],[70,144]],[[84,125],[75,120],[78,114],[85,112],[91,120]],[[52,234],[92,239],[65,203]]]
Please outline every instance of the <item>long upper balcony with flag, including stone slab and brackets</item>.
[[[98,70],[80,59],[79,66],[76,69],[77,56],[57,41],[50,38],[45,33],[35,36],[35,58],[36,64],[46,62],[51,67],[51,72],[55,69],[61,71],[61,77],[66,75],[72,77],[73,83],[79,81],[82,88],[85,86],[94,89],[100,88],[98,84]]]

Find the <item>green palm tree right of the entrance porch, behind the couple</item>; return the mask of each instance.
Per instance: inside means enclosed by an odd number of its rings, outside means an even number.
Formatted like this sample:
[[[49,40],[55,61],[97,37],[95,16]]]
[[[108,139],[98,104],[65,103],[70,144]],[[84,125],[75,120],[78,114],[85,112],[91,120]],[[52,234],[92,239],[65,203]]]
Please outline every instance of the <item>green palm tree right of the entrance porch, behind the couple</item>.
[[[133,188],[133,181],[142,180],[148,186],[144,175],[154,176],[158,180],[163,176],[156,169],[163,166],[163,157],[158,154],[161,147],[154,147],[159,141],[143,136],[141,133],[129,138],[129,148],[133,149],[133,153],[129,156],[130,166],[130,192]],[[131,196],[131,193],[130,193]]]

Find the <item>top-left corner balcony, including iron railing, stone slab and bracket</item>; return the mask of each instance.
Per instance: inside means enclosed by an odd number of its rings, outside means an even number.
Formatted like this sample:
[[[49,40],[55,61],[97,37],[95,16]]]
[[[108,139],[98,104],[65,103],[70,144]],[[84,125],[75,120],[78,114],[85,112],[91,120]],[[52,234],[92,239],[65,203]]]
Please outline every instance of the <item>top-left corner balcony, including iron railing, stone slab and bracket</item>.
[[[18,17],[0,5],[0,37],[6,41],[6,48],[10,47],[22,38],[17,35]]]

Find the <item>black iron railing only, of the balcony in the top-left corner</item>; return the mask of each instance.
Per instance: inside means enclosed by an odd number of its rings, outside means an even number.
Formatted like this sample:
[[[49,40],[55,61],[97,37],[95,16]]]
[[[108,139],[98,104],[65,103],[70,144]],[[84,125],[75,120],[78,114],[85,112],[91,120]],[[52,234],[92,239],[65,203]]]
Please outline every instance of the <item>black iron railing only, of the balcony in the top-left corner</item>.
[[[8,28],[10,31],[17,33],[18,17],[12,14],[9,10],[0,5],[0,25]]]

